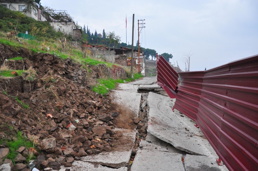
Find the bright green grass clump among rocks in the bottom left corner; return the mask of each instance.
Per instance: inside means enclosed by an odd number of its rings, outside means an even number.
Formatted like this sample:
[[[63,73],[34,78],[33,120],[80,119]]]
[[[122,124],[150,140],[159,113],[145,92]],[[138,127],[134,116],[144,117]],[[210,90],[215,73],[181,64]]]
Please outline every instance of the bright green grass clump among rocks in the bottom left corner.
[[[12,130],[12,129],[11,129]],[[6,156],[7,159],[12,160],[13,163],[15,163],[15,158],[18,155],[18,152],[16,152],[21,146],[26,147],[27,149],[29,148],[35,148],[35,146],[33,146],[33,142],[26,139],[25,137],[22,136],[22,133],[19,131],[16,135],[16,140],[6,140],[6,146],[9,148],[10,152],[9,154]],[[2,139],[0,141],[0,144],[3,144],[5,142],[5,139]],[[29,161],[29,159],[36,159],[36,157],[34,155],[32,156],[27,156],[27,162]]]

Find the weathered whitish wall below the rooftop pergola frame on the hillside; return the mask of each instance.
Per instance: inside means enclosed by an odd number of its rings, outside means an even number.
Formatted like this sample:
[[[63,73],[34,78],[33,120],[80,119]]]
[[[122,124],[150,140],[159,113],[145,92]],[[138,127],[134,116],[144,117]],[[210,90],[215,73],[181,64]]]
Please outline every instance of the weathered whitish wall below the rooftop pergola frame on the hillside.
[[[52,21],[50,25],[55,31],[61,31],[67,35],[73,35],[73,30],[76,29],[76,25],[73,21]]]

